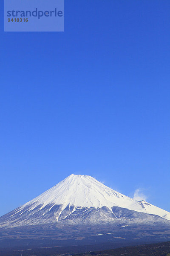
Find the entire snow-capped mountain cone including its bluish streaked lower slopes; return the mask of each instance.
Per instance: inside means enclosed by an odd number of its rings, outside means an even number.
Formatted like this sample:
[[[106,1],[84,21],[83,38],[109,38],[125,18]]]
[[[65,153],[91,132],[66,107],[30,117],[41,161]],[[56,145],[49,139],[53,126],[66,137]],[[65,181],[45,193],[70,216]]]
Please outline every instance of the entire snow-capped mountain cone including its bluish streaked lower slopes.
[[[121,221],[122,216],[124,222],[126,218],[146,222],[170,220],[170,212],[122,195],[91,176],[70,175],[37,198],[0,217],[0,227],[59,222],[107,223]]]

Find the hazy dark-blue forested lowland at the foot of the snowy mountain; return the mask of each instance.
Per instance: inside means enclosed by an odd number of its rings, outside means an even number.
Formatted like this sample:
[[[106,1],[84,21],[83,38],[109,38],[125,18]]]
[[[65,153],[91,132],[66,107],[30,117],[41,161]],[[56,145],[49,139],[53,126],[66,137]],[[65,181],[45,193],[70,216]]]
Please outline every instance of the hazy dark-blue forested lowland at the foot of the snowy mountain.
[[[35,225],[0,229],[0,256],[73,255],[166,241],[170,241],[169,228],[134,226],[124,227],[122,231],[119,225],[112,227],[108,224],[70,227]]]

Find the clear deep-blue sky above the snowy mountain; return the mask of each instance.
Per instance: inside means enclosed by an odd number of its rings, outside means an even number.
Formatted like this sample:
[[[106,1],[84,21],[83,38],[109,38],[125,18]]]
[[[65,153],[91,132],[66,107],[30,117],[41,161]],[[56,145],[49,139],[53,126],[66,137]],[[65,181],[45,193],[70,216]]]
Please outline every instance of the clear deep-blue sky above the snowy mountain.
[[[70,174],[170,211],[170,1],[65,0],[65,32],[3,32],[0,215]]]

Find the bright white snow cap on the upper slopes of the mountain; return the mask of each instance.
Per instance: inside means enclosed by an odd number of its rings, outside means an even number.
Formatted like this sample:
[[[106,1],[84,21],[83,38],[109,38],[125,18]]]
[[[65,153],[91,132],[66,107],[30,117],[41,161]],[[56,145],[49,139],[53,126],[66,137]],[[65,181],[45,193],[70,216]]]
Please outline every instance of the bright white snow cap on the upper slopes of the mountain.
[[[71,207],[74,206],[74,209],[77,207],[94,207],[97,209],[108,207],[110,210],[112,207],[116,206],[138,212],[156,214],[161,217],[164,216],[163,218],[170,219],[169,212],[152,206],[147,202],[136,201],[133,198],[122,195],[89,175],[71,174],[37,198],[24,204],[21,209],[24,207],[34,209],[39,205],[42,205],[41,208],[47,205],[61,205],[61,208],[65,209],[69,205]]]

